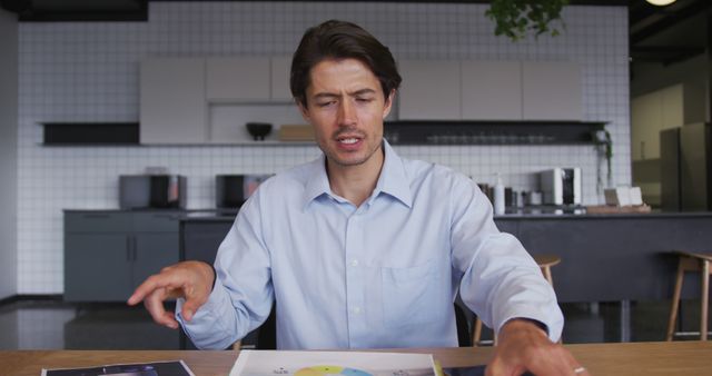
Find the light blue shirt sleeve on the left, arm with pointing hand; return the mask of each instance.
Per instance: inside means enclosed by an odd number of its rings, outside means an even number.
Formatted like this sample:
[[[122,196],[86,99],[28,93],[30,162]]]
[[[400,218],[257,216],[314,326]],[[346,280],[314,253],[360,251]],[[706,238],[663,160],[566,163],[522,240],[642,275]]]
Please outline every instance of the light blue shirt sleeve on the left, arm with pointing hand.
[[[206,304],[190,321],[180,314],[184,300],[176,304],[176,319],[198,348],[228,348],[269,316],[274,290],[258,191],[245,202],[218,248],[216,283]]]

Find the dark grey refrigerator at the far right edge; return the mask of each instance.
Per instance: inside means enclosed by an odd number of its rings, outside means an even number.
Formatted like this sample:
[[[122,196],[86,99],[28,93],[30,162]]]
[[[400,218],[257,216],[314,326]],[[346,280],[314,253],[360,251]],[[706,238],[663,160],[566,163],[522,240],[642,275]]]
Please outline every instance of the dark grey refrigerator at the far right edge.
[[[712,125],[660,131],[660,184],[663,210],[712,210]]]

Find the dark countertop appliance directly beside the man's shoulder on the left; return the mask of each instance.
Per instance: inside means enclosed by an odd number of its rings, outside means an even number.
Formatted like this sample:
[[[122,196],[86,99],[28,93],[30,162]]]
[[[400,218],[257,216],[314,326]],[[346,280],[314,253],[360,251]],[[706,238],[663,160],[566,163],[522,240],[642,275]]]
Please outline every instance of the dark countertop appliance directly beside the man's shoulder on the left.
[[[218,175],[215,177],[215,206],[239,208],[271,175]]]

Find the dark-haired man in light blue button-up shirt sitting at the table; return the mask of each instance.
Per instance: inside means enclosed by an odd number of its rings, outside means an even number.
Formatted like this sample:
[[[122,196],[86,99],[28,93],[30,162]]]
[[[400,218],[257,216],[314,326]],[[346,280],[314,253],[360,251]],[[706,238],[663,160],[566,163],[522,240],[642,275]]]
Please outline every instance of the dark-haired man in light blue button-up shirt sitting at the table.
[[[495,328],[491,375],[573,375],[551,286],[468,178],[399,158],[383,139],[400,83],[389,50],[356,24],[305,33],[291,92],[324,155],[265,181],[220,245],[215,270],[187,261],[129,298],[226,348],[277,304],[279,348],[457,346],[453,300]],[[178,297],[177,313],[162,301]]]

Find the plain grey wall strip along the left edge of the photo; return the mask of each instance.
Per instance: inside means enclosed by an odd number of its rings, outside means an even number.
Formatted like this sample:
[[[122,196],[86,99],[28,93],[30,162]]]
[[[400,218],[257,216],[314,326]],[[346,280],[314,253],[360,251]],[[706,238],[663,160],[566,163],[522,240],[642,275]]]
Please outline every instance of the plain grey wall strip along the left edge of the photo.
[[[0,9],[0,299],[18,290],[18,21]]]

